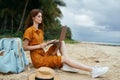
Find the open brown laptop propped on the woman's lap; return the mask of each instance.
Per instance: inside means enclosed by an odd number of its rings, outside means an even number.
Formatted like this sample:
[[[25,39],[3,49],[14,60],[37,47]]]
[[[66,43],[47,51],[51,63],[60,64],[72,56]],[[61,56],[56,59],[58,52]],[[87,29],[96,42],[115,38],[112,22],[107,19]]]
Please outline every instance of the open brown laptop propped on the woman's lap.
[[[53,54],[57,53],[58,49],[60,48],[60,42],[65,39],[66,32],[67,32],[67,27],[63,26],[62,29],[61,29],[61,34],[60,34],[60,38],[59,38],[59,44],[58,44],[57,48],[55,49],[55,51],[53,52]]]

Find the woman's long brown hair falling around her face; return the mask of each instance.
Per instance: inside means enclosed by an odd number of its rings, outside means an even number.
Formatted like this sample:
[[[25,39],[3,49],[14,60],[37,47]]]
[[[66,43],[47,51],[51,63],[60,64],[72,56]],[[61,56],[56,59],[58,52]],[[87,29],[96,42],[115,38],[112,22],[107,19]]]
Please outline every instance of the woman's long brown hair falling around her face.
[[[35,17],[38,13],[43,13],[42,10],[40,9],[33,9],[30,14],[28,15],[26,22],[25,22],[25,29],[33,25],[33,19],[32,17]],[[38,25],[38,29],[41,29],[44,31],[44,24],[43,20],[42,22]]]

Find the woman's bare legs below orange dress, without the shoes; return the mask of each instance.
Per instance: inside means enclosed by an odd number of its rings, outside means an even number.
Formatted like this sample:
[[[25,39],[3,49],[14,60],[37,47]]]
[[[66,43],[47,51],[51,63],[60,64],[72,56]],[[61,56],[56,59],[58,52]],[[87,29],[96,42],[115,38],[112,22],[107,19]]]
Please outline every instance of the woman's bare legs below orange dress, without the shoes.
[[[80,70],[84,70],[84,71],[89,71],[89,72],[92,71],[92,67],[86,66],[86,65],[80,64],[80,63],[78,64],[75,61],[70,60],[67,57],[67,55],[66,55],[67,50],[66,50],[66,46],[65,46],[64,41],[61,42],[60,53],[62,55],[62,63],[67,64],[67,65],[69,65],[69,66],[71,66],[73,68],[76,68],[76,69],[80,69]]]

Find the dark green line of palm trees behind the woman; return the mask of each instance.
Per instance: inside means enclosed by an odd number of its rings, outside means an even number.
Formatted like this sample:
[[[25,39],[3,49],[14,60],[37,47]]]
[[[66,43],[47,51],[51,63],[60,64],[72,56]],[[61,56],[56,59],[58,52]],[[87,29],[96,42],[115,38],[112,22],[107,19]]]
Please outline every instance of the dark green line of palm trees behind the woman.
[[[0,0],[0,36],[22,37],[24,23],[29,12],[38,8],[43,10],[45,39],[57,39],[60,36],[60,19],[63,17],[59,6],[65,7],[63,0]],[[66,39],[72,36],[70,28]]]

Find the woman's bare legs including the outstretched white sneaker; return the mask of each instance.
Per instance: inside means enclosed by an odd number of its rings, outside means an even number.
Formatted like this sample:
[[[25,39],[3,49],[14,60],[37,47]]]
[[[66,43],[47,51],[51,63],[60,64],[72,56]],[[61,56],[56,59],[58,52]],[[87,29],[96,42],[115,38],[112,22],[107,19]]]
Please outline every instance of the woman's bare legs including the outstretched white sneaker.
[[[108,71],[108,67],[101,67],[101,68],[96,68],[96,67],[90,67],[84,64],[76,63],[75,61],[70,60],[66,53],[66,47],[64,41],[61,42],[61,47],[60,47],[60,52],[62,54],[62,63],[67,64],[73,68],[84,70],[84,71],[89,71],[92,73],[92,77],[96,78]],[[64,66],[63,66],[64,67]]]

